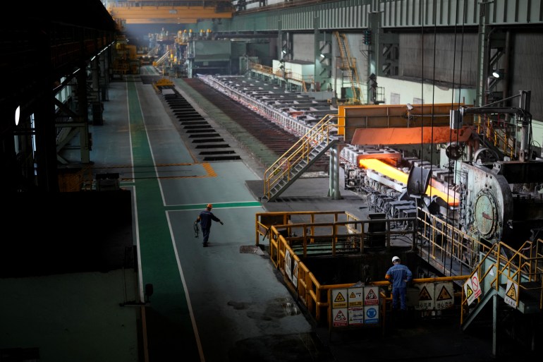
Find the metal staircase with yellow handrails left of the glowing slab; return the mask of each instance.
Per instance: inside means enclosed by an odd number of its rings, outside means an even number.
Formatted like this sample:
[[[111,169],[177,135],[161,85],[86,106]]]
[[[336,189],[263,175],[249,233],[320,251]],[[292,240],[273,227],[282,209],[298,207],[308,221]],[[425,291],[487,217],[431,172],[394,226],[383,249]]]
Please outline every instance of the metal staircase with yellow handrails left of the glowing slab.
[[[262,200],[273,201],[283,191],[291,186],[307,169],[322,157],[333,145],[337,138],[330,136],[335,128],[337,115],[328,114],[310,131],[298,140],[289,150],[264,171],[264,196]]]

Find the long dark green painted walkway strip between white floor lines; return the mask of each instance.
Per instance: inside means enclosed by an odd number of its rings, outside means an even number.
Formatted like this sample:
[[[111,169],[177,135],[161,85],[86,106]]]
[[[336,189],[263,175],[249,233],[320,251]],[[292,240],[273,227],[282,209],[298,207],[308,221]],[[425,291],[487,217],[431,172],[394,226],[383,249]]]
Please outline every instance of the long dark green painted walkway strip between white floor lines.
[[[128,85],[130,138],[135,169],[150,169],[154,177],[135,178],[135,210],[138,229],[142,285],[152,284],[152,307],[147,308],[147,331],[151,361],[168,355],[199,361],[195,331],[189,315],[185,289],[162,203],[145,122],[135,83]],[[143,290],[143,289],[142,289]]]

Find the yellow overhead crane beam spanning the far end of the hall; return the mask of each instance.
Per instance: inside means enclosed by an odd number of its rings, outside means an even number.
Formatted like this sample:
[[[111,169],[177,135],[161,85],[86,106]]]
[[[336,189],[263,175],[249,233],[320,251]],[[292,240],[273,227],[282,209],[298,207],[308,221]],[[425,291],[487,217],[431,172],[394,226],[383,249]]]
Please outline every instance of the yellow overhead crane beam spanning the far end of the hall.
[[[210,1],[171,1],[162,2],[116,1],[108,6],[108,11],[116,20],[126,24],[195,24],[201,19],[230,19],[233,7],[230,0]]]

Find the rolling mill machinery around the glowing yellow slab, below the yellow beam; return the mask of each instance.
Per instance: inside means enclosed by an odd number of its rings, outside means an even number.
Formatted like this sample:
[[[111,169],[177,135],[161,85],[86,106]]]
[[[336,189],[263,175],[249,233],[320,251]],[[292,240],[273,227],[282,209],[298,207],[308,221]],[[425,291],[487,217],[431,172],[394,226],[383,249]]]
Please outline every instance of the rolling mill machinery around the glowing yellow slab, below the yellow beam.
[[[519,97],[519,107],[451,107],[451,132],[456,130],[456,135],[449,142],[440,138],[446,131],[443,127],[433,127],[429,139],[424,126],[400,128],[396,123],[396,127],[382,128],[383,120],[374,121],[382,116],[379,108],[345,109],[344,133],[350,140],[343,150],[348,160],[346,186],[369,193],[370,200],[380,200],[370,206],[387,212],[394,210],[402,191],[408,191],[408,173],[427,169],[434,191],[428,189],[424,195],[426,205],[437,200],[432,213],[450,218],[451,224],[460,225],[474,239],[489,245],[503,241],[514,248],[541,237],[543,161],[530,149],[530,92],[520,92]],[[406,107],[413,114],[413,106]],[[385,113],[386,122],[394,125],[397,119],[390,116],[389,107]],[[496,126],[504,118],[509,119],[507,127]],[[358,128],[360,120],[367,127]],[[422,140],[421,153],[430,151],[422,157],[404,157],[408,139]],[[434,147],[440,150],[439,157],[431,162]]]

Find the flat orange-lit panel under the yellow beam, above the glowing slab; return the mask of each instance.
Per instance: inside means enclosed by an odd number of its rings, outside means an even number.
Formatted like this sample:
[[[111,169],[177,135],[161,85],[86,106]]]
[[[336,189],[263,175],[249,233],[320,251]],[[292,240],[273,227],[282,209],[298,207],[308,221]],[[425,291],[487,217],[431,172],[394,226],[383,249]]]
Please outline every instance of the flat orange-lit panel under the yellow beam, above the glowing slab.
[[[357,128],[351,145],[415,145],[420,143],[466,142],[472,128],[459,130],[449,126],[412,128]]]

